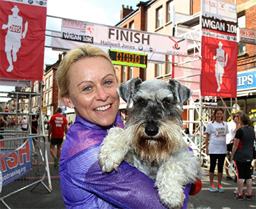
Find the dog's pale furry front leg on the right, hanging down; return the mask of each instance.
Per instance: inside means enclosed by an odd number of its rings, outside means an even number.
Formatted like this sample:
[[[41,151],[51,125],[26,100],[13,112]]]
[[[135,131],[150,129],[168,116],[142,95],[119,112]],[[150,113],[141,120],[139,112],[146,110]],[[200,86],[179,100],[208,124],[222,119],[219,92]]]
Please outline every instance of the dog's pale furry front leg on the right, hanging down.
[[[168,208],[181,208],[185,195],[183,186],[202,178],[199,158],[184,147],[163,164],[156,176],[156,187],[162,203]]]

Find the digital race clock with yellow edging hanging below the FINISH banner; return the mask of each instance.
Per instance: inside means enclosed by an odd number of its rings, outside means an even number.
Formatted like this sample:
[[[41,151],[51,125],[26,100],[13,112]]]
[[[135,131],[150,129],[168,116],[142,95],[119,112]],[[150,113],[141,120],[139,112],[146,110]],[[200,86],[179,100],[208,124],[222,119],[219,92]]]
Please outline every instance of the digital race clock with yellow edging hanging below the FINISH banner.
[[[125,52],[116,49],[109,49],[109,54],[114,65],[126,65],[137,68],[146,68],[147,54]]]

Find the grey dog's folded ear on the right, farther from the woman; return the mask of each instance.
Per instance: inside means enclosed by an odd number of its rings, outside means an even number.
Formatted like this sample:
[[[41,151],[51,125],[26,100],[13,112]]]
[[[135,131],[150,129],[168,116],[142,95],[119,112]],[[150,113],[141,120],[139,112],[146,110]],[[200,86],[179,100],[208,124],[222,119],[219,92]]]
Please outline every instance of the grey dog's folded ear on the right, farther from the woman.
[[[174,97],[176,97],[177,102],[179,102],[179,107],[181,107],[181,110],[183,111],[183,104],[188,101],[193,91],[182,85],[176,79],[170,79],[169,84]]]

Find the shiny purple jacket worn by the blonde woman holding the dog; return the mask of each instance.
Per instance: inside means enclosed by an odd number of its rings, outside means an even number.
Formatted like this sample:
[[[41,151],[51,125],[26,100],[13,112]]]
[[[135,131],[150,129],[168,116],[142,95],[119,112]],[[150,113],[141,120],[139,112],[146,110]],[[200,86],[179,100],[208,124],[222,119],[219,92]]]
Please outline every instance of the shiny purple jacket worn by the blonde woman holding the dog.
[[[119,114],[115,126],[123,127]],[[118,171],[103,174],[98,150],[107,129],[76,116],[61,150],[59,174],[66,208],[165,208],[154,182],[122,162]],[[190,185],[184,189],[186,208]]]

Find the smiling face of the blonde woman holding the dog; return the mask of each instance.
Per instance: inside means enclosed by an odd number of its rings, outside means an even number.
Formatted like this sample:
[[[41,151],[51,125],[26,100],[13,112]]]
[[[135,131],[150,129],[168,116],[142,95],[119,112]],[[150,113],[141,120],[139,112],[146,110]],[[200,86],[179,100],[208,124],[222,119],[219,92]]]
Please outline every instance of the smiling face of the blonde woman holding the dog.
[[[75,107],[77,116],[100,126],[114,123],[119,109],[118,82],[112,65],[103,57],[81,59],[70,68],[68,107]]]

